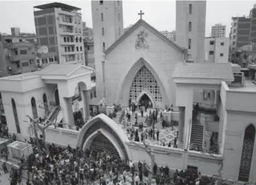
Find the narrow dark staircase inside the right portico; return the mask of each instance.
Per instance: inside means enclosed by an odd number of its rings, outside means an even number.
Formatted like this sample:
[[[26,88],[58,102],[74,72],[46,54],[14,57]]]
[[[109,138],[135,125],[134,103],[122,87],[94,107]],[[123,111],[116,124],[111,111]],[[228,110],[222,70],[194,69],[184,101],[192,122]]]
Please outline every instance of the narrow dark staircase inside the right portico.
[[[192,124],[190,144],[192,150],[202,150],[204,140],[204,126]]]

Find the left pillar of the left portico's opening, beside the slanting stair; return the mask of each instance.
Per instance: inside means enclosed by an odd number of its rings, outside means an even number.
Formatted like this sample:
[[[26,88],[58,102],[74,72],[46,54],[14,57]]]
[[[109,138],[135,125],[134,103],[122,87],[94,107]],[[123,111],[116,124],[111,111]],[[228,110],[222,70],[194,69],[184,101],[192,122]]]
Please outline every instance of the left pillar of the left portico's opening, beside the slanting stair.
[[[74,127],[75,121],[72,110],[72,97],[62,97],[61,107],[63,114],[63,127]]]

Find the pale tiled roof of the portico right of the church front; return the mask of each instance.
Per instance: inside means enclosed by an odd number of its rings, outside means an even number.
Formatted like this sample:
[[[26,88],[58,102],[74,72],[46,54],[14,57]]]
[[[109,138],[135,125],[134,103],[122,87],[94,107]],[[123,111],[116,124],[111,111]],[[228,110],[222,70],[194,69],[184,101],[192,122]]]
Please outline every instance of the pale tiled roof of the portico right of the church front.
[[[229,63],[178,63],[172,78],[208,78],[234,81]]]

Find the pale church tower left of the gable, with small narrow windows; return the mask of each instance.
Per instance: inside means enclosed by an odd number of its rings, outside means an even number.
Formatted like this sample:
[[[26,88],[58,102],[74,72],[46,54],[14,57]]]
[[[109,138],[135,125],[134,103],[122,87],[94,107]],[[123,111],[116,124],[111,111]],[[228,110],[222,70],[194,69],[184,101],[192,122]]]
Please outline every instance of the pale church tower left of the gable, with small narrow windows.
[[[97,97],[105,97],[104,52],[124,33],[121,1],[91,1]]]

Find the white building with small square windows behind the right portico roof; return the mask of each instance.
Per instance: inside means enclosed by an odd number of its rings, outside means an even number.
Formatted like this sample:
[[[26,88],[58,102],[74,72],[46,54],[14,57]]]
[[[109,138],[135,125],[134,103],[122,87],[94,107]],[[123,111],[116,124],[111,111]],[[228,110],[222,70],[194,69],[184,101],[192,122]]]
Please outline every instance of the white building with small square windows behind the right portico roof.
[[[211,63],[228,63],[229,38],[205,38],[205,61]]]

